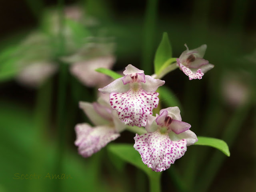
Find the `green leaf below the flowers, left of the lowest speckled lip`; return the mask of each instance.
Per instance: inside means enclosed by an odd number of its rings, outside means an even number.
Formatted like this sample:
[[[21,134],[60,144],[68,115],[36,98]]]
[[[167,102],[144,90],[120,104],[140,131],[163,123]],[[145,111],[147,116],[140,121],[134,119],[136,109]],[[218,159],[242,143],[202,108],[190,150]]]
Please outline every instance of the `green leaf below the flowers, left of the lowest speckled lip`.
[[[132,144],[109,144],[108,150],[122,160],[143,170],[149,177],[157,174],[142,162],[139,152],[133,148]]]

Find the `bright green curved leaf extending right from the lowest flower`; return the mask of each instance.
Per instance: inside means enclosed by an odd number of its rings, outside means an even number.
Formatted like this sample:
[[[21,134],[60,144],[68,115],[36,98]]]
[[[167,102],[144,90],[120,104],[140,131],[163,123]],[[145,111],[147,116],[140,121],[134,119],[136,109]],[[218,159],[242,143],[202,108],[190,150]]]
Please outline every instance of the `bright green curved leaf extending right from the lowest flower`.
[[[196,142],[194,145],[204,145],[204,146],[214,147],[220,150],[221,152],[223,152],[226,156],[228,157],[230,156],[228,145],[223,140],[210,138],[210,137],[197,137],[197,138],[198,138],[198,142]]]

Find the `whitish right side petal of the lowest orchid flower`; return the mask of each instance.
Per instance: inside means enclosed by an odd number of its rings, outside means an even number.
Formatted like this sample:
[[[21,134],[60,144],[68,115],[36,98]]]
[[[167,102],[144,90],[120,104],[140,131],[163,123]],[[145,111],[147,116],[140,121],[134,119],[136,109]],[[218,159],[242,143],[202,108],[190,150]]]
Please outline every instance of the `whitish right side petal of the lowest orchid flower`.
[[[169,137],[172,141],[179,141],[181,139],[186,139],[187,146],[193,145],[195,142],[198,141],[196,134],[191,130],[186,130],[180,134],[175,134],[174,132],[170,132]]]

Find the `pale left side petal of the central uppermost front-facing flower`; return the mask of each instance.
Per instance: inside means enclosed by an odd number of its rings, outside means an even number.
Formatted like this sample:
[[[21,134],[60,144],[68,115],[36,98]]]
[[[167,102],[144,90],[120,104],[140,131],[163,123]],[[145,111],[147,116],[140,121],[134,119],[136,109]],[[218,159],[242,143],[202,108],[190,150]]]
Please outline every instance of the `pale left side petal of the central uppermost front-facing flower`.
[[[102,93],[124,93],[130,89],[130,85],[124,85],[122,81],[122,77],[114,80],[112,83],[108,84],[107,86],[98,89]]]

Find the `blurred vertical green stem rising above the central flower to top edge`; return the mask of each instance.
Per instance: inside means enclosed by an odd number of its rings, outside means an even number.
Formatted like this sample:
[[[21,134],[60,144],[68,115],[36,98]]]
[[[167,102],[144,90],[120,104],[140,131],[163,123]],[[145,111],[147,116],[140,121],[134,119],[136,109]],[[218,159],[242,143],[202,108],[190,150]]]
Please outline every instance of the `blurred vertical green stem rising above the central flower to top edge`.
[[[152,63],[154,55],[154,34],[156,29],[158,0],[148,0],[145,13],[144,29],[142,34],[142,66],[145,74],[152,74]]]

